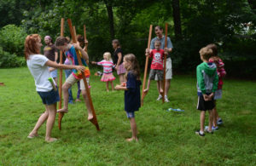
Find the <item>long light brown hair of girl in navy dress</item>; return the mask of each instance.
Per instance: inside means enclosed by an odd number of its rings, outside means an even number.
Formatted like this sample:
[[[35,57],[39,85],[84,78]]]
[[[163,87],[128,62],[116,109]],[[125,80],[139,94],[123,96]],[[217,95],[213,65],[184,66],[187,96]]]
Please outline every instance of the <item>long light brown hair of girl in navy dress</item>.
[[[127,66],[125,73],[125,78],[127,78],[128,72],[131,72],[137,77],[137,80],[141,79],[140,66],[138,65],[137,58],[134,54],[125,54],[124,60],[130,61],[131,66]]]

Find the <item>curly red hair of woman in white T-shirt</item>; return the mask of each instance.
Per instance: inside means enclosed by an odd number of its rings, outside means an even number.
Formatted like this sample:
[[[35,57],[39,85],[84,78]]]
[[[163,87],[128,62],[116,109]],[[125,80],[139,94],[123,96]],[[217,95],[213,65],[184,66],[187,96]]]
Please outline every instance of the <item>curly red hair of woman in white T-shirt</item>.
[[[24,54],[25,59],[29,59],[30,54],[40,54],[40,47],[38,47],[37,43],[41,41],[41,37],[38,34],[32,34],[26,36],[24,43]]]

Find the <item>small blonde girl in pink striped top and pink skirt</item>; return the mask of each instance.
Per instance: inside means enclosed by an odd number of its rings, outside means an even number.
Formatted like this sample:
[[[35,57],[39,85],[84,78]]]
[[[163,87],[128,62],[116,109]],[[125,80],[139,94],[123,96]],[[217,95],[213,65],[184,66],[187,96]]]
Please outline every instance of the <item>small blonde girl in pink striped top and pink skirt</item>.
[[[103,59],[100,62],[95,62],[92,61],[92,64],[96,64],[98,66],[103,66],[103,75],[102,75],[102,82],[106,82],[106,89],[107,91],[109,91],[108,89],[108,83],[111,83],[111,88],[113,91],[113,80],[115,79],[115,77],[113,77],[113,72],[112,72],[112,68],[113,68],[113,60],[111,58],[111,54],[109,52],[106,52],[103,54]]]

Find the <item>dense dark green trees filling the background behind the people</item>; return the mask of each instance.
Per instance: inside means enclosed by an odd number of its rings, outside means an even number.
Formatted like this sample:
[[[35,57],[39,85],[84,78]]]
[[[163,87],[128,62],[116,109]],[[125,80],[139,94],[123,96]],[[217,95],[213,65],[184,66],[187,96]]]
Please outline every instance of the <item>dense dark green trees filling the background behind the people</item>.
[[[125,54],[136,54],[143,66],[149,25],[164,26],[167,22],[170,25],[168,36],[174,45],[172,61],[175,72],[194,72],[195,66],[200,63],[199,49],[208,43],[217,43],[228,76],[256,77],[255,1],[9,1],[20,5],[23,16],[16,24],[28,34],[58,37],[62,17],[73,20],[78,34],[83,34],[85,24],[90,60],[101,60],[105,51],[113,52],[111,41],[119,38]],[[174,23],[173,2],[179,3],[180,25]],[[9,12],[9,17],[16,14]],[[181,34],[174,33],[174,26],[181,26]],[[181,37],[176,38],[178,35]],[[70,36],[67,23],[65,36]]]

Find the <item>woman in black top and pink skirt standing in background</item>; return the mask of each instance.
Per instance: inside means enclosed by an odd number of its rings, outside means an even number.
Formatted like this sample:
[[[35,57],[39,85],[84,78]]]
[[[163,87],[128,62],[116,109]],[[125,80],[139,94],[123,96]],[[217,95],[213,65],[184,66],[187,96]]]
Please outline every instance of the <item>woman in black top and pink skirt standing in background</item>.
[[[123,65],[123,51],[121,49],[120,43],[118,39],[114,39],[112,41],[112,46],[114,49],[113,52],[113,64],[115,65],[115,70],[119,75],[120,83],[125,82],[125,66]]]

